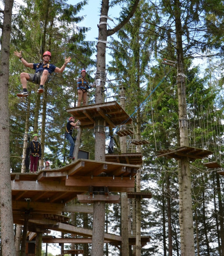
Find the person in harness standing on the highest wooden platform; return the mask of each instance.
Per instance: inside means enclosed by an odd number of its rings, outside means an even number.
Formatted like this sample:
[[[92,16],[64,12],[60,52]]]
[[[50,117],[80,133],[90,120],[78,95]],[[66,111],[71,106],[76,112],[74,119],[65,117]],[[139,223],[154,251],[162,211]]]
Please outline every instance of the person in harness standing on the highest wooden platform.
[[[78,92],[78,104],[77,107],[81,105],[81,101],[83,100],[83,106],[86,106],[86,97],[87,97],[87,90],[93,88],[88,84],[86,80],[86,70],[81,71],[81,77],[77,79],[77,92]]]

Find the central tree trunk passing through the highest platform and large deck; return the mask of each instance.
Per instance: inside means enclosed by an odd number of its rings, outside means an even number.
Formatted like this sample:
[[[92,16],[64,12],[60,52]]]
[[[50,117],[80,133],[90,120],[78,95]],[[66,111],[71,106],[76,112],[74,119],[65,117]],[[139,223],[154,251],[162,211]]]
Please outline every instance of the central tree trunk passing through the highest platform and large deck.
[[[109,0],[102,0],[100,15],[108,16]],[[100,17],[100,22],[106,22],[106,18]],[[103,94],[102,88],[105,84],[106,72],[106,42],[107,40],[107,25],[100,24],[99,36],[97,44],[97,72],[96,79],[99,79],[100,85],[97,86],[95,92],[95,103],[102,103]],[[104,41],[104,42],[102,42]],[[103,118],[95,120],[95,160],[105,161],[105,124]],[[105,202],[94,202],[93,204],[93,237],[92,237],[92,256],[104,255],[104,222],[105,222]]]

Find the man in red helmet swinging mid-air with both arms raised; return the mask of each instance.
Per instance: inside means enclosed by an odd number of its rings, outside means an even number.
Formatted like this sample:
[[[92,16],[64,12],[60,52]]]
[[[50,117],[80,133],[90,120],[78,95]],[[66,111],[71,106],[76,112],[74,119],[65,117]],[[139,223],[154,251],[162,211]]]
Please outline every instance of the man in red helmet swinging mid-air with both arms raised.
[[[20,74],[20,81],[22,83],[22,92],[17,93],[18,97],[27,97],[29,95],[27,90],[27,81],[35,84],[40,84],[40,87],[37,93],[44,92],[44,84],[49,81],[49,77],[52,72],[62,73],[65,70],[66,65],[70,62],[71,57],[65,58],[65,63],[61,68],[58,68],[49,63],[51,60],[51,52],[45,51],[43,54],[43,62],[40,63],[28,63],[24,58],[22,58],[22,51],[14,52],[15,56],[17,56],[25,67],[33,68],[35,70],[35,74],[22,72]]]

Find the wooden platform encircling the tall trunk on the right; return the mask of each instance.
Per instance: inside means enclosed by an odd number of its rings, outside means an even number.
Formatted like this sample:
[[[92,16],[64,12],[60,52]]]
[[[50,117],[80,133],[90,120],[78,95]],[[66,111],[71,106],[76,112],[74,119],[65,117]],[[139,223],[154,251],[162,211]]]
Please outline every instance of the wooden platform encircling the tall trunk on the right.
[[[174,158],[180,160],[182,157],[188,157],[189,160],[194,161],[195,159],[203,159],[209,155],[213,154],[212,151],[193,148],[193,147],[180,147],[176,149],[168,149],[168,150],[159,150],[159,154],[157,157],[167,157]]]

